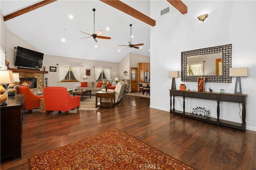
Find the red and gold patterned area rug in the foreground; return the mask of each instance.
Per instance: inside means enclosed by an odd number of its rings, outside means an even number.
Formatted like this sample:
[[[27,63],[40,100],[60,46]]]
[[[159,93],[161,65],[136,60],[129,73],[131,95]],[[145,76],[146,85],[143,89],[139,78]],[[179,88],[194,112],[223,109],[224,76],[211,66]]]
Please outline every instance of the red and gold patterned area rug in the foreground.
[[[32,170],[193,169],[116,128],[28,158],[28,165]]]

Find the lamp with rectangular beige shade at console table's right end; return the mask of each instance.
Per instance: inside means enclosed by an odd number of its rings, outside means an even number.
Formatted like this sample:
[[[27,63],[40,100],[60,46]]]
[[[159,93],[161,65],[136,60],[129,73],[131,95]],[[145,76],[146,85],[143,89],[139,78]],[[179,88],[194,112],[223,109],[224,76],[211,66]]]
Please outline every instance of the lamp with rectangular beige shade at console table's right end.
[[[241,90],[241,80],[240,77],[247,77],[247,67],[244,68],[229,68],[229,76],[230,77],[236,77],[236,87],[235,87],[235,93],[238,95],[242,95]],[[239,91],[238,91],[238,85],[239,85]]]

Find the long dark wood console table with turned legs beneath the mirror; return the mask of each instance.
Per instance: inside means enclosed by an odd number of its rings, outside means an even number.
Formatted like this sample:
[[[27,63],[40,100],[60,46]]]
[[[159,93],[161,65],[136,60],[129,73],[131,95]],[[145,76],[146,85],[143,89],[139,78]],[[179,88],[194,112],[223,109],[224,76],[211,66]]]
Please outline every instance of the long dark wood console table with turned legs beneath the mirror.
[[[227,127],[237,128],[241,129],[243,132],[246,130],[246,94],[242,95],[236,95],[233,93],[209,93],[209,92],[199,92],[199,91],[181,91],[181,90],[170,90],[170,114],[176,114],[176,115],[182,115],[183,117],[188,117],[192,119],[197,119],[200,121],[213,123],[218,126],[223,125]],[[183,111],[176,111],[174,108],[175,105],[175,96],[181,96],[183,97]],[[185,112],[185,98],[196,98],[196,99],[206,99],[206,100],[214,100],[217,102],[217,119],[216,118],[210,118],[205,119],[205,117],[200,115],[190,115],[190,113]],[[173,98],[173,100],[172,100]],[[219,119],[220,117],[220,101],[229,101],[229,102],[236,102],[236,103],[242,103],[242,123],[235,123],[231,121],[225,121]],[[173,108],[172,108],[173,105]]]

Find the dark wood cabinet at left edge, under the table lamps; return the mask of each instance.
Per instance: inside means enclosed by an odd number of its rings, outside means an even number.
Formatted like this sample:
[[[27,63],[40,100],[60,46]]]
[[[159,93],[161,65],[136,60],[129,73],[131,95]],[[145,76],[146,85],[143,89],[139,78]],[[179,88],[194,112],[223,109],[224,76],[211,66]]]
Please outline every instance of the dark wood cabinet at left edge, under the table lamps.
[[[1,161],[22,158],[22,114],[24,95],[9,96],[6,106],[0,107]]]

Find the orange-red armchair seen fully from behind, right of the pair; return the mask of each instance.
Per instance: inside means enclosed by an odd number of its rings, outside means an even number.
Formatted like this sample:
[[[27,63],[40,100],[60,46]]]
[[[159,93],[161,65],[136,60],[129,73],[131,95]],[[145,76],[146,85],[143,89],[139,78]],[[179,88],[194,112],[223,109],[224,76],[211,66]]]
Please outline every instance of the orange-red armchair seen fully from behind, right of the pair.
[[[80,107],[80,96],[70,96],[66,87],[44,87],[44,107],[49,111],[68,111]]]

